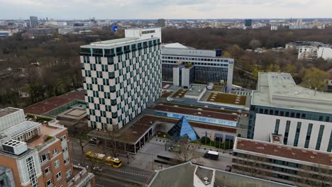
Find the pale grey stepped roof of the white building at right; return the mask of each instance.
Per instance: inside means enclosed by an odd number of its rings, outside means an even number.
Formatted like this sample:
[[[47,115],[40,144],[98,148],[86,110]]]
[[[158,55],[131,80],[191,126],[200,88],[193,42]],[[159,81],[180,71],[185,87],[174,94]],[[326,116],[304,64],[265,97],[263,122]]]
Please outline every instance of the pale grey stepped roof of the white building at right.
[[[288,73],[260,72],[251,104],[332,113],[332,94],[297,86]]]

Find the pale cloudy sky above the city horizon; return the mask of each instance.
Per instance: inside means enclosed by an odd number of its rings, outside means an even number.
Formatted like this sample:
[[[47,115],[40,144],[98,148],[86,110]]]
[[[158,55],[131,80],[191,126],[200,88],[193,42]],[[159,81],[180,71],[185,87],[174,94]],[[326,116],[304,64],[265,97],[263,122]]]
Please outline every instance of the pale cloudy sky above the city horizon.
[[[0,0],[0,19],[332,18],[332,0]]]

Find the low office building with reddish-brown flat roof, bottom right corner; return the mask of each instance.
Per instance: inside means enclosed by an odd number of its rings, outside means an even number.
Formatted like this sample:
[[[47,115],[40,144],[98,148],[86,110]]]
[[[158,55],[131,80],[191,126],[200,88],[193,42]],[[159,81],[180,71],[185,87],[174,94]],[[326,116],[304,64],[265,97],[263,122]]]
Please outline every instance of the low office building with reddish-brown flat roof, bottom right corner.
[[[294,186],[331,186],[332,154],[236,137],[232,172]]]

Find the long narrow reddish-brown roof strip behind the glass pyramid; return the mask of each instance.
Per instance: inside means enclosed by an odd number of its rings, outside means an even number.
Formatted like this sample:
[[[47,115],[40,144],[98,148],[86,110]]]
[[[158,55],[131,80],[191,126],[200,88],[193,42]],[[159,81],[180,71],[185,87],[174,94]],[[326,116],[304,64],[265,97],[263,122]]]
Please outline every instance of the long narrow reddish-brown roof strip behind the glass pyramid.
[[[155,111],[165,111],[170,113],[179,113],[184,115],[194,115],[201,116],[205,118],[216,118],[220,120],[230,120],[230,121],[238,121],[238,115],[232,115],[228,113],[218,113],[216,111],[204,111],[203,109],[195,109],[195,108],[182,108],[179,106],[164,106],[164,105],[156,105],[152,109]]]

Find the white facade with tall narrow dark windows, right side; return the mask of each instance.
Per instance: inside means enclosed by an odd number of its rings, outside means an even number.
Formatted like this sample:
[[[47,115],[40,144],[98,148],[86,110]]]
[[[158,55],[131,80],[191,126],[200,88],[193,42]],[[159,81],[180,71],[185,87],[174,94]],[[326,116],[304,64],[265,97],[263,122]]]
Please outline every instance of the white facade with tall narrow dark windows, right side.
[[[256,114],[254,140],[270,141],[271,134],[282,135],[283,144],[331,152],[332,123],[317,120]]]

